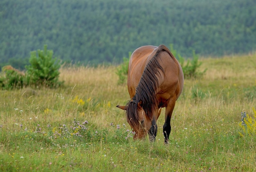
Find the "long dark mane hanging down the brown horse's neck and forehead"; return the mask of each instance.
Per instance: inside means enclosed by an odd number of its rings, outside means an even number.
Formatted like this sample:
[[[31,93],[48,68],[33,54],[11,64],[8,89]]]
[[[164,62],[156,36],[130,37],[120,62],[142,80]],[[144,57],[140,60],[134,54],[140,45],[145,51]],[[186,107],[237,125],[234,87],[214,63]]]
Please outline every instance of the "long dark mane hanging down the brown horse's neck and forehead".
[[[152,119],[153,111],[158,106],[158,100],[156,98],[156,89],[159,86],[160,71],[164,72],[164,69],[159,63],[159,54],[162,51],[166,51],[173,56],[171,52],[164,45],[160,45],[153,58],[146,65],[139,84],[136,88],[135,96],[131,101],[127,103],[126,117],[132,126],[138,125],[139,114],[137,111],[137,105],[141,101],[141,107],[144,109],[146,116]]]

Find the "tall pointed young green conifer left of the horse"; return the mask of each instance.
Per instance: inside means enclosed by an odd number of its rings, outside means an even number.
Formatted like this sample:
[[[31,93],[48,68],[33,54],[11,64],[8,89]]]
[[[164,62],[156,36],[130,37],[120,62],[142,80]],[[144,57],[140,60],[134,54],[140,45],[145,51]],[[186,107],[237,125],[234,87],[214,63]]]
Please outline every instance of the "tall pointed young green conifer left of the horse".
[[[53,51],[47,50],[47,45],[44,46],[43,51],[32,51],[29,63],[30,65],[26,66],[27,85],[58,87],[62,84],[58,81],[60,61],[53,58]]]

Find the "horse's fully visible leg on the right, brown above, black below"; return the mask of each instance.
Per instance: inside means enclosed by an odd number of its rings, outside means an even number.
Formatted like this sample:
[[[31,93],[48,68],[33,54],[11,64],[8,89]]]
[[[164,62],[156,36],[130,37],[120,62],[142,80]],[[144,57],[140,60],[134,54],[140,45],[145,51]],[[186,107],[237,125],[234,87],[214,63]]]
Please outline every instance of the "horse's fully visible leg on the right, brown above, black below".
[[[175,101],[170,100],[168,106],[165,109],[165,122],[163,126],[164,133],[164,143],[168,143],[169,135],[171,133],[171,116],[173,114],[173,109],[175,106]]]

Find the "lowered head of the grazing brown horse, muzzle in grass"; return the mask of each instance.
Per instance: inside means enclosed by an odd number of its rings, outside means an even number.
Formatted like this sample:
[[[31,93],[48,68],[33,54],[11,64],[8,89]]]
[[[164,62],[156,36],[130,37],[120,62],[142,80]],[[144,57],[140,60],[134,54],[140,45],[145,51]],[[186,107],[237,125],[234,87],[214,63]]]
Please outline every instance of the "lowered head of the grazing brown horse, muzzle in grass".
[[[135,132],[133,139],[145,138],[148,132],[150,132],[153,122],[148,115],[146,115],[142,108],[141,101],[130,101],[126,106],[117,105],[117,107],[126,110],[126,120],[133,132]]]

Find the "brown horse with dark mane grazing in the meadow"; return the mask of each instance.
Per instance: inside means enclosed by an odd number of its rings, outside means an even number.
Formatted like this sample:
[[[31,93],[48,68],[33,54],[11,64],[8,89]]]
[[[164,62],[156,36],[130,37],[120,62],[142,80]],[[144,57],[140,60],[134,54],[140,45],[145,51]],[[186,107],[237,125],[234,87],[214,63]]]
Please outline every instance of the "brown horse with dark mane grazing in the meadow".
[[[143,46],[132,53],[127,80],[131,100],[117,107],[126,110],[127,122],[135,132],[133,139],[145,138],[149,133],[150,141],[154,141],[157,118],[166,107],[163,132],[164,143],[168,143],[171,116],[183,83],[182,67],[166,46]]]

